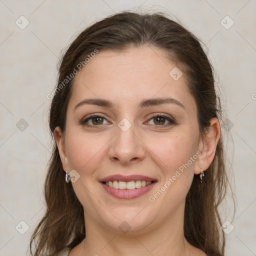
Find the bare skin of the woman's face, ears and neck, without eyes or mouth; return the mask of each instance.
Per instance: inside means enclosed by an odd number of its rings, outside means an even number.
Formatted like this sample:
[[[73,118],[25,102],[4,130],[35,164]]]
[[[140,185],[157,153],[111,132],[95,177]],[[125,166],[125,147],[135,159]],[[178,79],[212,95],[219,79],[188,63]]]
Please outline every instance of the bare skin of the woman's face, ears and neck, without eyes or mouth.
[[[80,175],[72,186],[84,209],[86,237],[70,256],[206,255],[185,240],[183,212],[194,174],[214,158],[220,127],[212,118],[207,133],[199,132],[195,100],[184,75],[178,80],[169,75],[174,67],[159,49],[141,46],[119,53],[100,51],[75,76],[66,129],[54,131],[63,169]],[[184,108],[175,103],[138,107],[141,100],[158,97],[174,98]],[[82,104],[74,110],[88,98],[107,99],[113,107]],[[91,113],[105,119],[97,127],[81,124]],[[176,124],[167,119],[158,124],[155,113],[173,117]],[[123,118],[131,124],[127,131],[118,127]],[[198,151],[197,159],[150,202],[148,197]],[[141,174],[157,183],[138,198],[118,199],[98,181],[112,174]],[[118,228],[123,221],[130,226],[126,233]]]

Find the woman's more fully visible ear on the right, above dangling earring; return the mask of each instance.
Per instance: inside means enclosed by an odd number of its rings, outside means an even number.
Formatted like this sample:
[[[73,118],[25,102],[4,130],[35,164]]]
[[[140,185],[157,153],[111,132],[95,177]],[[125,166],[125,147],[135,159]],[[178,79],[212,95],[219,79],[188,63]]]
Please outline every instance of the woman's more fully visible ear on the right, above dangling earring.
[[[198,150],[201,152],[194,168],[194,174],[199,174],[202,170],[206,170],[214,159],[218,140],[220,138],[220,125],[217,118],[210,119],[210,126],[207,131],[202,134]]]

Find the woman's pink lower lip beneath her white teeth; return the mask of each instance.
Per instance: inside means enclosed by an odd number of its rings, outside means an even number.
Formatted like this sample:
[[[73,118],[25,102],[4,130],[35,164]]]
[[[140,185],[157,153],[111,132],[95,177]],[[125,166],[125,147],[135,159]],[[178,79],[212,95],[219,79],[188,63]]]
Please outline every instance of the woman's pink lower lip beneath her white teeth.
[[[156,182],[152,182],[149,185],[142,186],[140,188],[135,188],[135,189],[116,189],[116,188],[107,186],[103,182],[100,182],[100,183],[107,193],[109,193],[112,196],[119,198],[119,199],[137,198],[137,197],[141,196],[142,194],[145,194],[146,192],[148,192],[156,184]]]

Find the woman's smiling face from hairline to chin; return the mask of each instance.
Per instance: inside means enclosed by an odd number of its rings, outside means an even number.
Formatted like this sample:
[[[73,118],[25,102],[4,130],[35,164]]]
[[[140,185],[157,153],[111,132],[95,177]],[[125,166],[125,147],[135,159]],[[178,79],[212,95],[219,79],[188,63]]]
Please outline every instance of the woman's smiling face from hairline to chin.
[[[59,144],[85,225],[139,232],[183,220],[200,141],[185,77],[160,50],[97,53],[74,78]]]

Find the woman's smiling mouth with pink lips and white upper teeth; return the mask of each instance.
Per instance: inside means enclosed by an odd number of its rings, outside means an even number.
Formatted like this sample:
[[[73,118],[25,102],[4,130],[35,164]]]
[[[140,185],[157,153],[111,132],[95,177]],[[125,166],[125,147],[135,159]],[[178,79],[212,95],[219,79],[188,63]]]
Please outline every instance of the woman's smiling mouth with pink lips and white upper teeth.
[[[157,180],[142,175],[111,175],[99,182],[108,194],[119,199],[133,199],[148,192]]]

